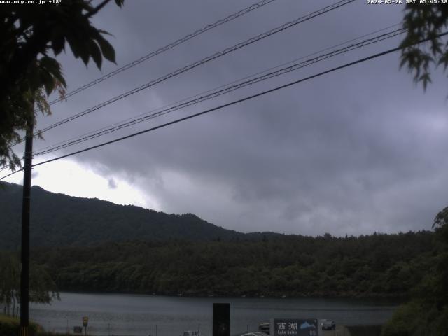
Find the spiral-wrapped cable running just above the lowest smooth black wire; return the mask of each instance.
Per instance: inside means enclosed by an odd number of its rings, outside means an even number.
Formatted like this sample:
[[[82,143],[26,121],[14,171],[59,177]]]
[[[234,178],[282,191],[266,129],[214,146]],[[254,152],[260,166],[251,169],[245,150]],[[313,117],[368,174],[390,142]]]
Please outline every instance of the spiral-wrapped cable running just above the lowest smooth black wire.
[[[60,145],[57,145],[57,146],[50,146],[50,148],[48,148],[48,149],[43,149],[41,151],[37,151],[36,153],[34,153],[34,156],[43,155],[43,154],[47,154],[47,153],[52,153],[52,152],[57,151],[57,150],[62,149],[62,148],[66,148],[66,147],[69,147],[69,146],[80,144],[82,142],[85,142],[85,141],[88,141],[90,139],[94,139],[94,138],[97,138],[97,137],[101,137],[102,135],[109,134],[111,132],[116,132],[117,130],[121,130],[121,129],[125,128],[125,127],[130,127],[130,126],[135,125],[137,123],[142,123],[142,122],[144,122],[146,120],[150,120],[150,119],[153,119],[153,118],[156,118],[156,117],[159,117],[159,116],[163,116],[163,115],[165,115],[167,113],[171,113],[173,111],[177,111],[179,109],[183,109],[184,107],[191,106],[191,105],[194,105],[194,104],[198,104],[198,103],[204,102],[204,101],[206,101],[208,99],[212,99],[212,98],[221,96],[223,94],[227,94],[229,92],[232,92],[232,91],[235,91],[235,90],[239,90],[242,87],[246,87],[248,85],[253,85],[255,83],[260,83],[263,80],[267,80],[267,79],[270,79],[270,78],[274,78],[276,76],[281,76],[281,75],[283,75],[285,73],[290,73],[291,71],[302,69],[305,66],[309,66],[311,64],[315,64],[317,62],[321,62],[321,61],[323,61],[325,59],[329,59],[331,57],[335,57],[336,55],[341,55],[341,54],[343,54],[345,52],[349,52],[351,50],[356,50],[358,48],[363,48],[366,45],[371,45],[373,43],[378,43],[380,41],[384,41],[387,38],[392,38],[394,36],[398,36],[400,34],[403,34],[403,33],[405,33],[405,31],[406,31],[405,29],[401,28],[401,29],[396,29],[395,31],[391,31],[391,32],[386,33],[386,34],[381,34],[379,36],[375,36],[373,38],[368,38],[365,41],[361,41],[359,43],[348,45],[345,48],[333,50],[332,52],[328,52],[327,54],[319,55],[318,57],[314,57],[312,59],[307,59],[304,62],[293,64],[293,65],[287,66],[286,68],[282,68],[282,69],[279,69],[279,70],[274,71],[274,72],[266,73],[263,76],[258,76],[258,77],[255,77],[255,78],[251,79],[251,80],[246,80],[246,81],[244,81],[242,83],[239,83],[237,85],[232,85],[230,87],[226,87],[225,89],[217,90],[215,92],[211,92],[210,94],[206,94],[206,95],[204,95],[202,97],[198,97],[196,99],[192,99],[192,100],[190,100],[188,102],[183,102],[183,103],[181,103],[179,105],[172,106],[172,107],[169,107],[167,109],[162,109],[161,111],[158,111],[158,112],[155,112],[155,113],[151,113],[151,114],[149,114],[147,116],[144,116],[144,117],[141,117],[141,118],[134,118],[134,119],[132,119],[132,120],[126,122],[126,123],[121,123],[121,124],[114,125],[113,127],[109,127],[109,128],[107,128],[105,130],[101,130],[101,131],[96,132],[94,134],[87,135],[86,137],[81,137],[81,138],[73,140],[73,141],[66,141],[63,144],[60,144]]]

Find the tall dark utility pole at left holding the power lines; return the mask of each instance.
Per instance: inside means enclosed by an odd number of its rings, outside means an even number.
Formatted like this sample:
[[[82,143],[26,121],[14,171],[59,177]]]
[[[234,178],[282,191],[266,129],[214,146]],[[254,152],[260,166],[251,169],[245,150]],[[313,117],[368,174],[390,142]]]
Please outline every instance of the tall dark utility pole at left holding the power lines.
[[[20,336],[28,336],[29,325],[29,209],[31,193],[31,165],[33,127],[27,130],[25,140],[25,167],[23,173],[22,203],[22,272],[20,274]]]

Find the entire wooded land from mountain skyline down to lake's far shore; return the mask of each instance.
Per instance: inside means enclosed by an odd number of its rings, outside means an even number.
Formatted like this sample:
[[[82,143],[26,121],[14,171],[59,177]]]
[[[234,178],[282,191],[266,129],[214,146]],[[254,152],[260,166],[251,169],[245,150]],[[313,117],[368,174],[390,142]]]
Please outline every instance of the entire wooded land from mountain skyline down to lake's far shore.
[[[60,290],[406,297],[437,265],[435,233],[304,237],[31,189],[31,259]],[[20,241],[22,187],[0,185],[0,250]],[[1,253],[1,251],[0,251]],[[15,252],[14,252],[15,253]]]

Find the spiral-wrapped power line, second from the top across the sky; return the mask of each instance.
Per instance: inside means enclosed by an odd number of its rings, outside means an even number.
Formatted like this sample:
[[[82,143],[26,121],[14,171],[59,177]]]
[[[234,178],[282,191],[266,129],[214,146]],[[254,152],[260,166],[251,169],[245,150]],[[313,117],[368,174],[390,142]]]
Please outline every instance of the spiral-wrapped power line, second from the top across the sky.
[[[305,22],[307,20],[311,20],[312,18],[316,18],[316,17],[318,17],[320,15],[328,13],[331,10],[335,10],[335,9],[337,9],[339,7],[345,6],[346,4],[349,4],[349,3],[353,2],[353,1],[355,1],[355,0],[341,0],[341,1],[338,1],[337,3],[333,3],[330,6],[325,6],[324,8],[321,8],[319,10],[316,10],[316,11],[312,12],[312,13],[309,13],[308,15],[304,15],[301,18],[297,18],[296,20],[287,22],[287,23],[285,23],[285,24],[283,24],[283,25],[281,25],[279,27],[271,29],[271,30],[269,30],[269,31],[267,31],[265,33],[262,33],[262,34],[258,35],[258,36],[249,38],[248,40],[246,40],[244,42],[240,42],[240,43],[238,43],[236,45],[233,45],[232,47],[225,48],[221,52],[216,52],[214,55],[210,55],[210,56],[205,57],[205,58],[203,58],[203,59],[201,59],[201,60],[199,60],[197,62],[194,62],[192,64],[188,64],[186,66],[183,66],[183,68],[177,69],[176,71],[173,71],[172,73],[168,73],[165,76],[162,76],[162,77],[157,78],[155,80],[151,80],[150,82],[148,82],[148,83],[146,83],[144,85],[141,85],[139,87],[134,88],[133,90],[127,91],[127,92],[125,92],[123,94],[120,94],[120,95],[118,95],[116,97],[113,97],[113,98],[111,98],[109,100],[106,100],[106,102],[102,102],[101,104],[93,106],[90,109],[87,109],[87,110],[82,111],[80,113],[76,113],[75,115],[73,115],[73,116],[71,116],[69,118],[66,118],[64,120],[61,120],[61,121],[55,123],[55,124],[52,124],[52,125],[50,125],[48,127],[43,128],[43,130],[41,130],[40,132],[41,133],[46,132],[48,130],[51,130],[52,128],[55,128],[57,126],[63,125],[65,123],[68,123],[69,121],[75,120],[76,118],[80,118],[81,116],[85,116],[88,113],[92,113],[93,111],[97,111],[98,109],[101,109],[102,107],[104,107],[106,105],[109,105],[109,104],[111,104],[113,102],[117,102],[118,100],[123,99],[125,97],[128,97],[131,94],[140,92],[141,90],[145,90],[148,87],[152,87],[153,85],[161,83],[164,80],[167,80],[167,79],[172,78],[174,76],[178,76],[181,73],[184,73],[186,71],[194,69],[195,67],[200,66],[200,65],[202,65],[204,63],[210,62],[213,59],[216,59],[216,58],[221,57],[223,55],[226,55],[226,54],[228,54],[230,52],[233,52],[235,50],[243,48],[246,45],[250,45],[251,43],[255,43],[257,41],[260,41],[262,38],[266,38],[268,36],[274,35],[276,33],[279,33],[280,31],[286,30],[286,29],[288,29],[290,27],[294,27],[295,25],[298,25],[298,24],[300,24],[302,22]]]

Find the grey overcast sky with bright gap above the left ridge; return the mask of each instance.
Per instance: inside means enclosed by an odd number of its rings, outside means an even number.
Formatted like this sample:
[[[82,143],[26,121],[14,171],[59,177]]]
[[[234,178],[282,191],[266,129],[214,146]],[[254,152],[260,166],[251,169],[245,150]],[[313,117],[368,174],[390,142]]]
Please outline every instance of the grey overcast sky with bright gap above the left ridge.
[[[276,0],[54,105],[53,115],[40,118],[38,127],[334,2]],[[127,0],[122,9],[111,3],[94,18],[94,24],[113,34],[109,41],[116,48],[118,64],[106,62],[101,73],[93,63],[86,68],[67,48],[59,60],[68,91],[251,3],[255,1]],[[395,25],[402,20],[402,9],[357,0],[46,132],[45,141],[36,141],[34,148],[148,113]],[[36,157],[34,162],[393,48],[402,37]],[[190,212],[241,232],[339,236],[429,230],[435,214],[448,205],[448,79],[437,70],[424,93],[405,69],[400,71],[399,64],[400,54],[395,52],[48,163],[34,169],[33,184],[67,195],[168,213]],[[21,183],[20,175],[6,181]]]

